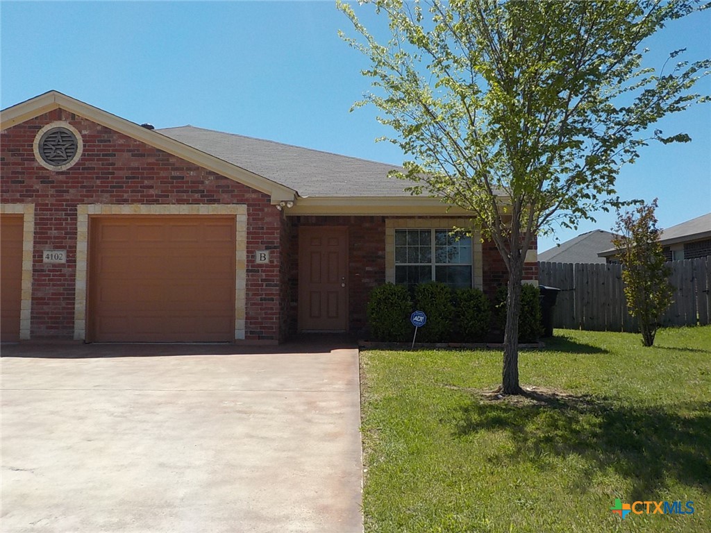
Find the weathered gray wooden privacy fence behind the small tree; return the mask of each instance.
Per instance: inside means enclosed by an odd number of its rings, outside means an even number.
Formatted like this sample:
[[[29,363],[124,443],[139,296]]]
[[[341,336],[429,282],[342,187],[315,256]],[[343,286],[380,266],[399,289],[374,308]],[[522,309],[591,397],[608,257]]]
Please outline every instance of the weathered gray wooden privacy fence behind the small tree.
[[[711,257],[670,261],[673,303],[663,325],[711,323]],[[593,331],[638,331],[628,311],[619,264],[538,263],[538,282],[561,289],[553,327]]]

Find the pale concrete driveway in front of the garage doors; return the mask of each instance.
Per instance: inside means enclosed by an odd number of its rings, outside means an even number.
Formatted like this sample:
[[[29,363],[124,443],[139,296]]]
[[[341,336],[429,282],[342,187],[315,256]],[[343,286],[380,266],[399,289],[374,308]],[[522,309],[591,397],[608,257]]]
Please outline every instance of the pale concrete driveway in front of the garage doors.
[[[355,349],[1,351],[2,532],[363,530]]]

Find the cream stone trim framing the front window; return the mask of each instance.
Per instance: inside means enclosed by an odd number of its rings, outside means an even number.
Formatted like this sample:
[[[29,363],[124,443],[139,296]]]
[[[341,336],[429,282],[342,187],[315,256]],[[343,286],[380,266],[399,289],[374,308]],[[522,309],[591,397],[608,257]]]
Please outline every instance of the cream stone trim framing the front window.
[[[385,281],[395,283],[395,230],[420,228],[471,228],[472,283],[475,289],[483,289],[483,252],[481,230],[469,218],[387,218],[385,219]]]

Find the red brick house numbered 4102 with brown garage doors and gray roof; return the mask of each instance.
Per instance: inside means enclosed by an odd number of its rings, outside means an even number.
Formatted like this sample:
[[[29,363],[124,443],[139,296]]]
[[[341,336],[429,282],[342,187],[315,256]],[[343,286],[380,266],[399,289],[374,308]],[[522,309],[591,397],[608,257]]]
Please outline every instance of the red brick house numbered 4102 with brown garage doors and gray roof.
[[[2,340],[275,344],[361,332],[386,281],[506,281],[466,212],[390,165],[151,129],[55,91],[0,119]]]

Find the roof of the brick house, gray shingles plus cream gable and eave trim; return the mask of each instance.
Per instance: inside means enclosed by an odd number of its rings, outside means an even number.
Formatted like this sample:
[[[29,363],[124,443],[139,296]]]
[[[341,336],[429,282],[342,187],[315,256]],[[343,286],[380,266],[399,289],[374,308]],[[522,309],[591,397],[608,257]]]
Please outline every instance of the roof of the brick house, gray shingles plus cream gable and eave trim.
[[[411,183],[387,175],[397,166],[195,126],[146,129],[57,91],[4,109],[0,128],[58,108],[260,190],[288,215],[469,214],[439,198],[406,193]]]

